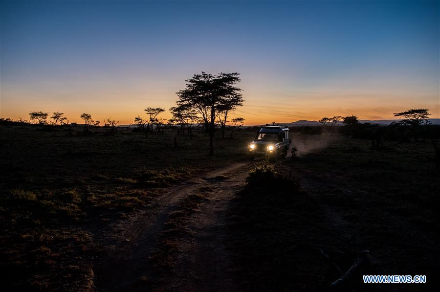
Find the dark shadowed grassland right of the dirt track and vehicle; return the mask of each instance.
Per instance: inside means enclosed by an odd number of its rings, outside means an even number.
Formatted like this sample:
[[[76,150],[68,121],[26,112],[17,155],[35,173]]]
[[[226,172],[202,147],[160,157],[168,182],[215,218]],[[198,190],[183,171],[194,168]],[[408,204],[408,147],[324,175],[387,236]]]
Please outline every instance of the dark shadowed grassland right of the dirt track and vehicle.
[[[293,140],[317,145],[323,138]],[[243,189],[229,214],[229,249],[240,288],[329,291],[357,252],[369,250],[372,265],[364,273],[427,275],[431,280],[425,285],[395,288],[438,291],[440,180],[434,151],[424,141],[391,147],[395,144],[371,150],[368,140],[334,136],[325,148],[303,147],[304,154],[293,161],[299,191],[283,190],[281,184]],[[288,173],[290,163],[278,171]],[[259,180],[252,181],[250,186]],[[349,290],[389,289],[366,287],[360,280],[355,278]]]

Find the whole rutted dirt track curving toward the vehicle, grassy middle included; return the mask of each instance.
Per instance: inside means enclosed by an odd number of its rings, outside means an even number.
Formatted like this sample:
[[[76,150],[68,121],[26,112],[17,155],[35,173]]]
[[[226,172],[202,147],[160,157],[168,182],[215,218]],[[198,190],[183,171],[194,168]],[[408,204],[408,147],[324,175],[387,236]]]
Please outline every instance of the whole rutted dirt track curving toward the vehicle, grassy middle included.
[[[173,187],[153,208],[116,226],[120,231],[115,232],[119,234],[115,235],[117,244],[94,265],[95,291],[145,291],[152,287],[159,291],[229,291],[233,285],[222,245],[224,217],[229,200],[251,168],[248,162],[237,163]],[[194,194],[200,200],[191,209],[188,198]],[[183,215],[178,229],[184,229],[188,236],[177,233],[170,238],[170,214],[179,212]],[[177,241],[177,251],[165,249],[163,243],[170,240]],[[154,260],[158,254],[170,259],[165,274],[163,263],[158,268]],[[157,281],[158,277],[162,281]]]

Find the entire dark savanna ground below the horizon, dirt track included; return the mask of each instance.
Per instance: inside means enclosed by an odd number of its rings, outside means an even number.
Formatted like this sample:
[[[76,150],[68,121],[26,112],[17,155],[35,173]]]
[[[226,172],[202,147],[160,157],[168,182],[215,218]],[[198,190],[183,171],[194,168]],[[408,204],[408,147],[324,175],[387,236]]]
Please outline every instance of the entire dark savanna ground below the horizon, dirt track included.
[[[200,133],[92,132],[0,127],[2,290],[329,291],[356,261],[331,289],[439,289],[428,142],[291,133],[299,157],[273,166],[291,180],[246,185],[254,132],[217,136],[213,158]]]

